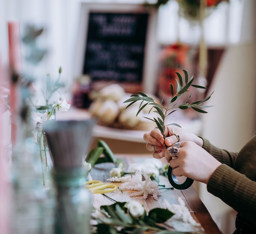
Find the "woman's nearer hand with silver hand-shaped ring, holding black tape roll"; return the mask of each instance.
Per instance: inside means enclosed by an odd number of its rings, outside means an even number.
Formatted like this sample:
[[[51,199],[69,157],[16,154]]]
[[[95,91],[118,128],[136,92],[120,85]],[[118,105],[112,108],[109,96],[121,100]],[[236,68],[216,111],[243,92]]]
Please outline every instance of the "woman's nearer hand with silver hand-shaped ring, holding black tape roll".
[[[170,162],[173,174],[176,176],[186,176],[207,184],[212,173],[221,165],[218,160],[195,142],[182,142],[176,155],[171,156],[168,149],[165,151],[165,158]],[[177,156],[177,158],[171,159],[173,156]]]

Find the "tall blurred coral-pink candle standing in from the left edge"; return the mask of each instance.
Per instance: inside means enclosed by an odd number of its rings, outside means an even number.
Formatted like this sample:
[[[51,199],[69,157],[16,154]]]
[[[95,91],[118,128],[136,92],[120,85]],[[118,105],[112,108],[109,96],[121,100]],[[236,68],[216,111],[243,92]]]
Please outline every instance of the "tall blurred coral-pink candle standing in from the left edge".
[[[8,39],[9,39],[9,66],[11,70],[10,82],[10,108],[11,108],[11,140],[12,145],[16,141],[17,120],[16,115],[19,106],[19,89],[18,83],[15,82],[14,75],[21,72],[21,53],[20,53],[20,28],[19,22],[8,22]]]

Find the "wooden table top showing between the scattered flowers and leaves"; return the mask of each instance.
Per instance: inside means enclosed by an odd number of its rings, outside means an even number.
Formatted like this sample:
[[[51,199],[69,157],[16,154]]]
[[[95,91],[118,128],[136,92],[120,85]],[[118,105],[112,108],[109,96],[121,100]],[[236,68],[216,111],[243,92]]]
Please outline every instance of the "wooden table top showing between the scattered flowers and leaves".
[[[117,155],[118,157],[122,157],[125,162],[125,167],[127,169],[127,165],[131,162],[139,162],[145,159],[145,155]],[[150,157],[150,155],[147,155]],[[95,165],[91,171],[91,176],[94,180],[100,180],[106,182],[109,178],[109,171],[113,168],[112,163],[102,163]],[[168,179],[164,176],[159,176],[160,184],[165,185],[166,187],[171,187]],[[115,185],[119,185],[115,183]],[[158,198],[158,201],[154,200],[152,196],[149,196],[146,200],[139,196],[137,198],[131,198],[129,195],[132,192],[116,191],[114,193],[109,193],[109,196],[117,201],[124,202],[132,199],[136,199],[140,203],[144,204],[144,207],[147,211],[157,208],[163,207],[164,200],[167,200],[169,203],[178,204],[178,198],[182,198],[186,204],[186,207],[191,211],[192,217],[200,223],[197,227],[192,227],[194,232],[199,233],[211,233],[211,234],[221,234],[216,223],[212,220],[211,215],[208,210],[204,206],[203,202],[197,195],[195,189],[191,186],[186,190],[177,190],[177,189],[169,189],[169,190],[161,190],[162,193]],[[172,223],[173,225],[173,223]],[[182,223],[176,223],[176,225],[182,225]],[[192,230],[191,230],[192,231]]]

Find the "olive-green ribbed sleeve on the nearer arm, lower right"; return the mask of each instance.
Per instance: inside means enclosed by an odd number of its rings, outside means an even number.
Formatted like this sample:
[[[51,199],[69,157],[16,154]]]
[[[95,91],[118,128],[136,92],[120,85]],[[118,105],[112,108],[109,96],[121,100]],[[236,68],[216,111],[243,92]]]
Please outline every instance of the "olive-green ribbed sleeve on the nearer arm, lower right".
[[[234,208],[244,219],[256,224],[256,182],[227,165],[212,174],[207,190]]]

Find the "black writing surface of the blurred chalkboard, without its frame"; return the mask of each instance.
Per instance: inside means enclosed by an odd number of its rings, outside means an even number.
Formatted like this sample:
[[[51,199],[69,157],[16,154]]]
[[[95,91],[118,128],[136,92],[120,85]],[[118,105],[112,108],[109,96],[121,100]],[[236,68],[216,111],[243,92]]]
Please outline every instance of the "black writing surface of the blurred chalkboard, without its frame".
[[[147,13],[90,13],[84,74],[92,80],[141,82]]]

